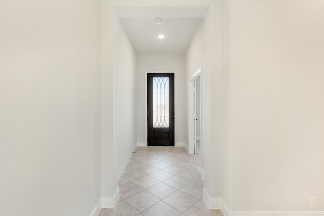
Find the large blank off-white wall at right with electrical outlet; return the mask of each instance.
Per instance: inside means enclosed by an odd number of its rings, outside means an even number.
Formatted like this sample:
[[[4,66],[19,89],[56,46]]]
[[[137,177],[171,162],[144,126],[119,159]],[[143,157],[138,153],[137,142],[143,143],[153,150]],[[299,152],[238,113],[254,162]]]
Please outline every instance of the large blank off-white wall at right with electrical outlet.
[[[324,210],[323,8],[231,1],[232,210]]]

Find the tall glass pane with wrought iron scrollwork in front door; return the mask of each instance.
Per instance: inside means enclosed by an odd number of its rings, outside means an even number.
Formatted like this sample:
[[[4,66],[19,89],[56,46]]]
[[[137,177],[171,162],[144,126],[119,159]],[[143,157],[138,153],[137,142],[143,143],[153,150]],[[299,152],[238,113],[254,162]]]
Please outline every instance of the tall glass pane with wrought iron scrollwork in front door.
[[[169,77],[153,77],[153,127],[169,127]]]

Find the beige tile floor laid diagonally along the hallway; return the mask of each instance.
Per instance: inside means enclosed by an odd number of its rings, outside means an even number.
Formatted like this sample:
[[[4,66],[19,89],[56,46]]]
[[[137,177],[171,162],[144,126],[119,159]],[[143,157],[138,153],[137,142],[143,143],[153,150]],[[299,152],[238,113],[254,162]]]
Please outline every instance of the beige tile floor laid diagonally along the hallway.
[[[120,197],[99,216],[223,216],[203,199],[200,145],[189,155],[184,147],[137,147],[119,178]]]

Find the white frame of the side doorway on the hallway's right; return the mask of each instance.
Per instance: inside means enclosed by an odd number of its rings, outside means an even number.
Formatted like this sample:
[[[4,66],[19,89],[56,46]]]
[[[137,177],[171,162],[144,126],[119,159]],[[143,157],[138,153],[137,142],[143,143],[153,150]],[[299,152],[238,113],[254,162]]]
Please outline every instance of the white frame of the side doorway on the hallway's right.
[[[201,67],[196,71],[194,72],[191,77],[189,78],[189,81],[188,81],[188,142],[189,142],[189,145],[188,145],[188,153],[189,154],[194,154],[194,122],[193,120],[195,119],[194,117],[194,114],[193,114],[193,92],[194,92],[194,88],[193,88],[193,85],[194,85],[194,81],[198,78],[198,76],[200,76],[200,116],[199,116],[199,119],[200,119],[200,125],[198,125],[200,127],[200,134],[201,134],[201,122],[203,119],[201,119]],[[195,121],[195,120],[194,120]],[[200,136],[200,154],[202,152],[202,137]],[[196,140],[197,141],[197,140]]]

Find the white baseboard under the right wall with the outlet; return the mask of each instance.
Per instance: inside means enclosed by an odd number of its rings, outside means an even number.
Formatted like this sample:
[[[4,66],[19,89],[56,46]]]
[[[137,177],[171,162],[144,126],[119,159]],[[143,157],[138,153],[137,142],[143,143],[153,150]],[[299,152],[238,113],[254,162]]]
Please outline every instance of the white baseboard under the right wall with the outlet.
[[[324,216],[324,211],[229,211],[228,216]]]

